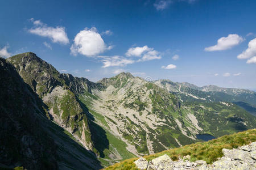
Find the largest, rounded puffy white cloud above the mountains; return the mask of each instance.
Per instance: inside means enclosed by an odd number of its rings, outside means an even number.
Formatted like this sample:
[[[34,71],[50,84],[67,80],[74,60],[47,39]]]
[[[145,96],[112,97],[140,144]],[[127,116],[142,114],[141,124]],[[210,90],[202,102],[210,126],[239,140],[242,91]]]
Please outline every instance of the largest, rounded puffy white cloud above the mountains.
[[[71,54],[76,56],[78,53],[84,56],[92,57],[112,49],[113,46],[106,46],[104,40],[96,28],[85,28],[77,33],[71,46]]]

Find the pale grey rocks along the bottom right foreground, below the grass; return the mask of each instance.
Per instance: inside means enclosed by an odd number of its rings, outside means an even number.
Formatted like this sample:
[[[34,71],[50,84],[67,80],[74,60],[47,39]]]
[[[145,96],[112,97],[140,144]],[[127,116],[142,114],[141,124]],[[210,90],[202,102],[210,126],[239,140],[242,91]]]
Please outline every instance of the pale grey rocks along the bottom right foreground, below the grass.
[[[233,148],[232,150],[223,149],[224,156],[214,162],[212,165],[207,165],[204,160],[196,160],[196,162],[190,162],[184,160],[190,158],[190,156],[184,156],[183,159],[179,159],[175,162],[171,160],[168,155],[159,156],[147,162],[144,158],[139,158],[134,163],[139,169],[147,170],[168,170],[168,169],[256,169],[256,142],[250,145]]]

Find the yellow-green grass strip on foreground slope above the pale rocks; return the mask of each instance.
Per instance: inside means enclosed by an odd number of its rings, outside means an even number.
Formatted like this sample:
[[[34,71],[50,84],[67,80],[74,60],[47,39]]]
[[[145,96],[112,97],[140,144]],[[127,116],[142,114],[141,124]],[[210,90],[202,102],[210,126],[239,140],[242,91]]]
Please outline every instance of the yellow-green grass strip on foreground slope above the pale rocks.
[[[248,145],[251,142],[256,141],[256,129],[242,131],[240,133],[225,135],[223,137],[213,139],[208,142],[197,142],[192,145],[186,145],[171,150],[159,152],[158,154],[152,154],[144,156],[147,160],[152,160],[158,156],[167,154],[172,160],[177,160],[180,156],[190,155],[191,161],[205,160],[208,164],[213,163],[217,158],[223,156],[222,148],[237,148],[239,146]],[[127,159],[121,163],[114,164],[107,169],[138,169],[133,163],[138,158]]]

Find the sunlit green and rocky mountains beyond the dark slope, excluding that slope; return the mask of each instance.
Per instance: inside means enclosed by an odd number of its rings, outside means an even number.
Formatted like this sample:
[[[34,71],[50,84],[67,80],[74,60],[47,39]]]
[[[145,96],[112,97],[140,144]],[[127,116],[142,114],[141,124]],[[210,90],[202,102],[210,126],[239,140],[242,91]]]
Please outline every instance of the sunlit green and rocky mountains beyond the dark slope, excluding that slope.
[[[94,83],[61,74],[34,53],[7,61],[46,104],[48,119],[94,152],[103,166],[195,143],[200,141],[197,134],[220,137],[256,126],[255,117],[221,99],[235,99],[222,92],[147,81],[130,73]],[[214,100],[202,98],[209,94]]]

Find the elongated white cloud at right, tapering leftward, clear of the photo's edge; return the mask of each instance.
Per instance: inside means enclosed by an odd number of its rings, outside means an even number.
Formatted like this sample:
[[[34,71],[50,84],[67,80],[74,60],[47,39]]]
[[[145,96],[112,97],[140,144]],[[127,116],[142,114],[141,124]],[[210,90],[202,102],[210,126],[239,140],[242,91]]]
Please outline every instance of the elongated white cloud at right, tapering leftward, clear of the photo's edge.
[[[243,38],[237,34],[229,34],[228,37],[221,37],[218,39],[217,45],[209,46],[204,50],[207,52],[213,52],[218,50],[230,49],[233,46],[240,44]]]

